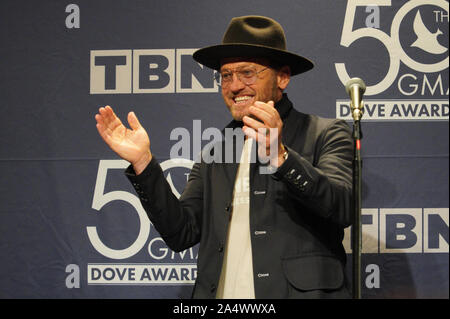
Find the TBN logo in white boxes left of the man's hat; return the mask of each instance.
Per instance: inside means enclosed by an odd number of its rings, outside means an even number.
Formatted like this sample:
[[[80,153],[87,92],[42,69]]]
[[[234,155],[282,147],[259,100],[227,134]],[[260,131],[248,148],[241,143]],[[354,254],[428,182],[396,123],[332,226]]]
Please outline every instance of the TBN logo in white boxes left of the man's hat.
[[[197,49],[91,50],[91,94],[218,92]]]

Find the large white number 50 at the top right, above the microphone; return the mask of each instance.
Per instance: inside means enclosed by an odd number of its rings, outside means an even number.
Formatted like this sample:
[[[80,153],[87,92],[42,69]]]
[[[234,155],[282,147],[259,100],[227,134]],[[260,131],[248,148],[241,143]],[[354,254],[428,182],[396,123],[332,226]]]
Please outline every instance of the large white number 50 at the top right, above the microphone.
[[[414,8],[422,5],[435,5],[447,11],[448,14],[448,2],[445,0],[411,0],[405,3],[397,12],[391,25],[391,35],[386,34],[383,31],[374,28],[359,28],[353,29],[355,20],[355,11],[357,6],[391,6],[391,0],[348,0],[347,9],[345,12],[344,26],[342,28],[342,36],[340,44],[344,47],[349,47],[353,42],[361,38],[374,38],[380,41],[387,49],[389,53],[390,63],[389,69],[385,77],[377,84],[367,86],[366,95],[375,95],[383,92],[391,86],[395,81],[400,69],[400,61],[406,64],[411,69],[419,72],[439,72],[448,68],[449,60],[447,57],[434,64],[424,64],[415,61],[410,58],[402,48],[399,38],[400,24],[403,18],[413,10]],[[350,80],[347,69],[344,63],[335,63],[335,68],[339,79],[342,84],[347,83]]]

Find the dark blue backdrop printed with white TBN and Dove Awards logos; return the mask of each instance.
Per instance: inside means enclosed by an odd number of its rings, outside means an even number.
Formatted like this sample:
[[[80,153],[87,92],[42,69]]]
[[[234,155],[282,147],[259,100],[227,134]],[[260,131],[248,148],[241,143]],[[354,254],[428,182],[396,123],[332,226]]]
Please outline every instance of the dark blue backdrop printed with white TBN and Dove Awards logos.
[[[362,297],[449,297],[448,1],[2,0],[1,298],[190,297],[198,247],[165,245],[94,115],[134,111],[179,196],[231,120],[192,53],[250,14],[315,62],[286,91],[299,111],[352,126],[344,84],[367,84]]]

